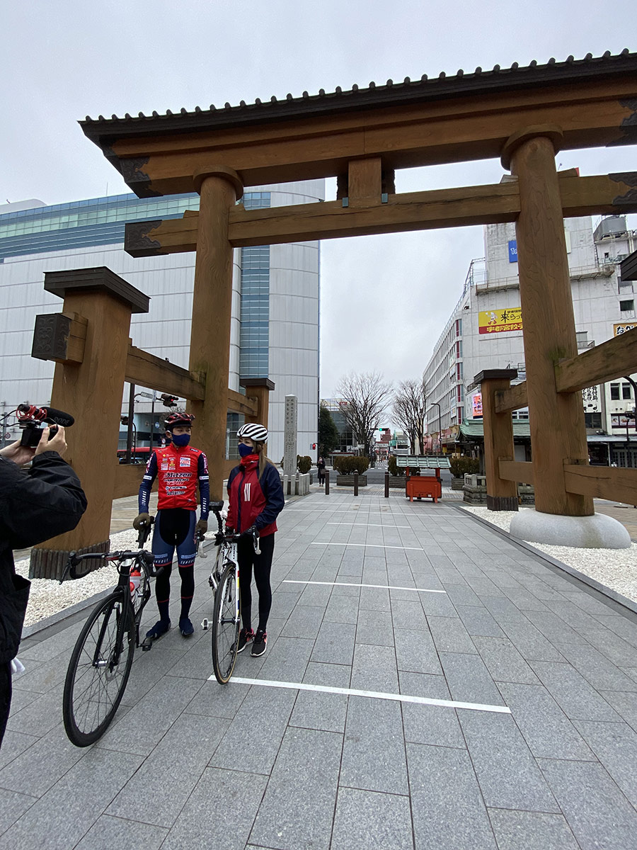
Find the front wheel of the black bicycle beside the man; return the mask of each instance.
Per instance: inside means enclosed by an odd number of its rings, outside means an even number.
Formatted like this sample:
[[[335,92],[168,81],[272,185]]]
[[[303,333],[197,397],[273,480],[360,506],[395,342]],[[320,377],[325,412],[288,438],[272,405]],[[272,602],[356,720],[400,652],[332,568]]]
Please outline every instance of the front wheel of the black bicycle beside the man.
[[[62,714],[76,746],[93,744],[115,717],[134,652],[132,609],[116,591],[95,606],[70,655]]]

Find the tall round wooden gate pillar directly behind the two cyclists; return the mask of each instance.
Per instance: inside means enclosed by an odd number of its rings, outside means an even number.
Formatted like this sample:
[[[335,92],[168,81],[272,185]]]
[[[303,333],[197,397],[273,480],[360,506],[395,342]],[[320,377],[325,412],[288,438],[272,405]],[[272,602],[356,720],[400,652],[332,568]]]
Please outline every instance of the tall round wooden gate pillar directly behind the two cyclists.
[[[196,416],[194,445],[208,457],[211,499],[222,499],[233,275],[228,214],[243,184],[232,168],[210,166],[195,171],[194,188],[200,207],[189,368],[206,374],[206,398],[190,402],[189,409]]]

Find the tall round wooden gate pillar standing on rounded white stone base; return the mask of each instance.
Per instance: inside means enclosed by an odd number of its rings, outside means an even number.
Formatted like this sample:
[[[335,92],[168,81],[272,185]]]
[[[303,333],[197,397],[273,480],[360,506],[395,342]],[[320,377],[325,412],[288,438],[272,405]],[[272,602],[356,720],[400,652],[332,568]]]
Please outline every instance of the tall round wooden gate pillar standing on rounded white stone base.
[[[555,170],[560,140],[559,127],[529,127],[507,141],[502,163],[520,187],[516,236],[535,507],[587,517],[595,513],[592,498],[567,492],[564,476],[565,464],[589,462],[582,396],[555,388],[555,365],[578,354]]]

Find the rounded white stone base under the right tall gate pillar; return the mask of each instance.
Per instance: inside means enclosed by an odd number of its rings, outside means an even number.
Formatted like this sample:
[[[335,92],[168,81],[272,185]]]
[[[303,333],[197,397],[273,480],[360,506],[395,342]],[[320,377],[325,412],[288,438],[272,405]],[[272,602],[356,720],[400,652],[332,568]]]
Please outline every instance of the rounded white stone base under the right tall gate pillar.
[[[528,508],[520,511],[510,524],[510,534],[529,543],[547,546],[572,546],[578,549],[628,549],[629,532],[603,513],[590,517],[564,517]]]

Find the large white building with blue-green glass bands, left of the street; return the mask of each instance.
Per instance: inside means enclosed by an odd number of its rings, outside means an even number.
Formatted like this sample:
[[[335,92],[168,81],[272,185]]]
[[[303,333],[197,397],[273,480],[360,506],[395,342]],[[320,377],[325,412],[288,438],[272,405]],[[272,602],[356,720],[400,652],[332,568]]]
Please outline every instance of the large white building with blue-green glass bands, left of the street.
[[[319,200],[324,181],[308,180],[251,188],[243,203],[280,207]],[[0,206],[0,415],[26,400],[46,405],[51,396],[54,363],[31,357],[35,316],[59,312],[62,304],[44,291],[47,271],[106,266],[121,275],[150,297],[149,313],[132,316],[133,345],[188,367],[194,253],[135,259],[124,252],[123,236],[127,222],[180,218],[198,207],[198,195],[132,194],[54,207],[42,201]],[[235,249],[233,278],[228,386],[244,392],[245,378],[274,382],[267,424],[268,455],[275,462],[283,456],[285,396],[296,395],[298,446],[306,454],[316,442],[318,423],[318,241]],[[124,395],[127,399],[127,388]],[[148,445],[150,410],[149,399],[137,399],[138,445],[144,439]],[[229,456],[241,421],[228,415]],[[14,422],[9,416],[3,439],[17,436]],[[157,433],[156,424],[153,430]]]

